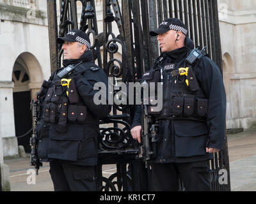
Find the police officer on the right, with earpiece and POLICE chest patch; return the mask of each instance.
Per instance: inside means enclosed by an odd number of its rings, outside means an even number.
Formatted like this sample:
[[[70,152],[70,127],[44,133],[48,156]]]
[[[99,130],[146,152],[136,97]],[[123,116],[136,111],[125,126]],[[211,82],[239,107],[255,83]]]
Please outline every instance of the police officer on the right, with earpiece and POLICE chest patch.
[[[225,142],[226,97],[218,66],[207,56],[189,64],[193,41],[177,18],[164,20],[151,36],[161,51],[154,67],[163,82],[163,108],[148,113],[157,123],[156,155],[149,165],[150,190],[178,191],[179,179],[186,191],[211,191],[209,159]],[[197,54],[195,54],[197,55]],[[145,80],[142,77],[142,81]],[[141,108],[138,107],[131,135],[141,142]]]

